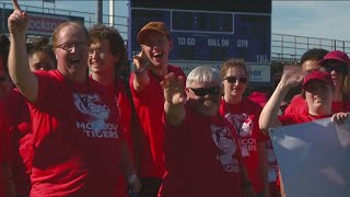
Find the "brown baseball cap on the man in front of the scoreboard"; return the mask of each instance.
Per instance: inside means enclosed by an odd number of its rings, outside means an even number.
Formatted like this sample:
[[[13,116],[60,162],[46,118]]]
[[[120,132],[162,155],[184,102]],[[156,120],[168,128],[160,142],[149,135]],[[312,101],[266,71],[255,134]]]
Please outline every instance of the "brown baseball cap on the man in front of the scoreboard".
[[[152,31],[159,32],[161,34],[166,35],[167,37],[171,37],[171,33],[168,32],[168,30],[164,23],[158,22],[158,21],[152,21],[152,22],[148,23],[147,25],[144,25],[140,30],[138,37],[137,37],[139,44],[143,44],[147,34]]]

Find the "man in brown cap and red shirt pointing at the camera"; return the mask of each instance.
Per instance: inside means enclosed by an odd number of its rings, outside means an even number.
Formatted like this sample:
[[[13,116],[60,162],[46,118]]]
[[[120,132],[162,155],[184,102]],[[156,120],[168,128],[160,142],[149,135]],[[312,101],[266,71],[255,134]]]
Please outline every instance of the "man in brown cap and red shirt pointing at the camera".
[[[171,34],[162,22],[150,22],[138,34],[141,53],[133,58],[135,71],[130,77],[131,95],[141,124],[139,176],[141,196],[155,197],[165,173],[162,125],[164,94],[160,85],[164,76],[173,72],[185,78],[179,67],[168,65],[173,47]]]

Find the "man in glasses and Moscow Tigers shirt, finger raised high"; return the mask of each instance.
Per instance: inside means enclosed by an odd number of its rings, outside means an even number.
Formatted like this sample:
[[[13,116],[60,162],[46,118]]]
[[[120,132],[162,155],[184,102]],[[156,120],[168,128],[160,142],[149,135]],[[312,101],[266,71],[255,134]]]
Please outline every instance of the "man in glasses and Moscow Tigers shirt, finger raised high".
[[[116,196],[119,175],[136,172],[122,157],[114,97],[88,77],[86,28],[77,22],[59,25],[52,34],[57,70],[33,73],[25,47],[28,15],[13,4],[9,71],[33,119],[31,196]],[[139,187],[137,179],[130,184]]]

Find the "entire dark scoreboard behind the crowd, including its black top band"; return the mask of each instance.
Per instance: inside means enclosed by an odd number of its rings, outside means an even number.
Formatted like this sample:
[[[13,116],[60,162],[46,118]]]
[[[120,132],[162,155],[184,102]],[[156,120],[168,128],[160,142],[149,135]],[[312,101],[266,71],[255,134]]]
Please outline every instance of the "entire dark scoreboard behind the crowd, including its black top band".
[[[130,57],[140,51],[136,37],[142,26],[161,21],[171,31],[172,61],[218,65],[229,58],[243,58],[247,65],[269,67],[271,0],[198,2],[190,7],[194,3],[189,4],[188,0],[187,3],[185,0],[131,0]],[[266,68],[262,70],[266,72]],[[267,82],[269,79],[256,81]]]

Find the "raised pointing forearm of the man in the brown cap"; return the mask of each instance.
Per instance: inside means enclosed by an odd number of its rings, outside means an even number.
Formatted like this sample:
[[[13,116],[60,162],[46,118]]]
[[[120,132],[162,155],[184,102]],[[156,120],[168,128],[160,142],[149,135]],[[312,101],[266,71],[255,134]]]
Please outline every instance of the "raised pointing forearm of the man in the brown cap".
[[[150,84],[150,77],[147,71],[150,61],[145,56],[143,49],[141,50],[140,54],[133,57],[132,61],[133,61],[133,73],[135,73],[132,84],[133,84],[133,89],[137,92],[140,92]]]

